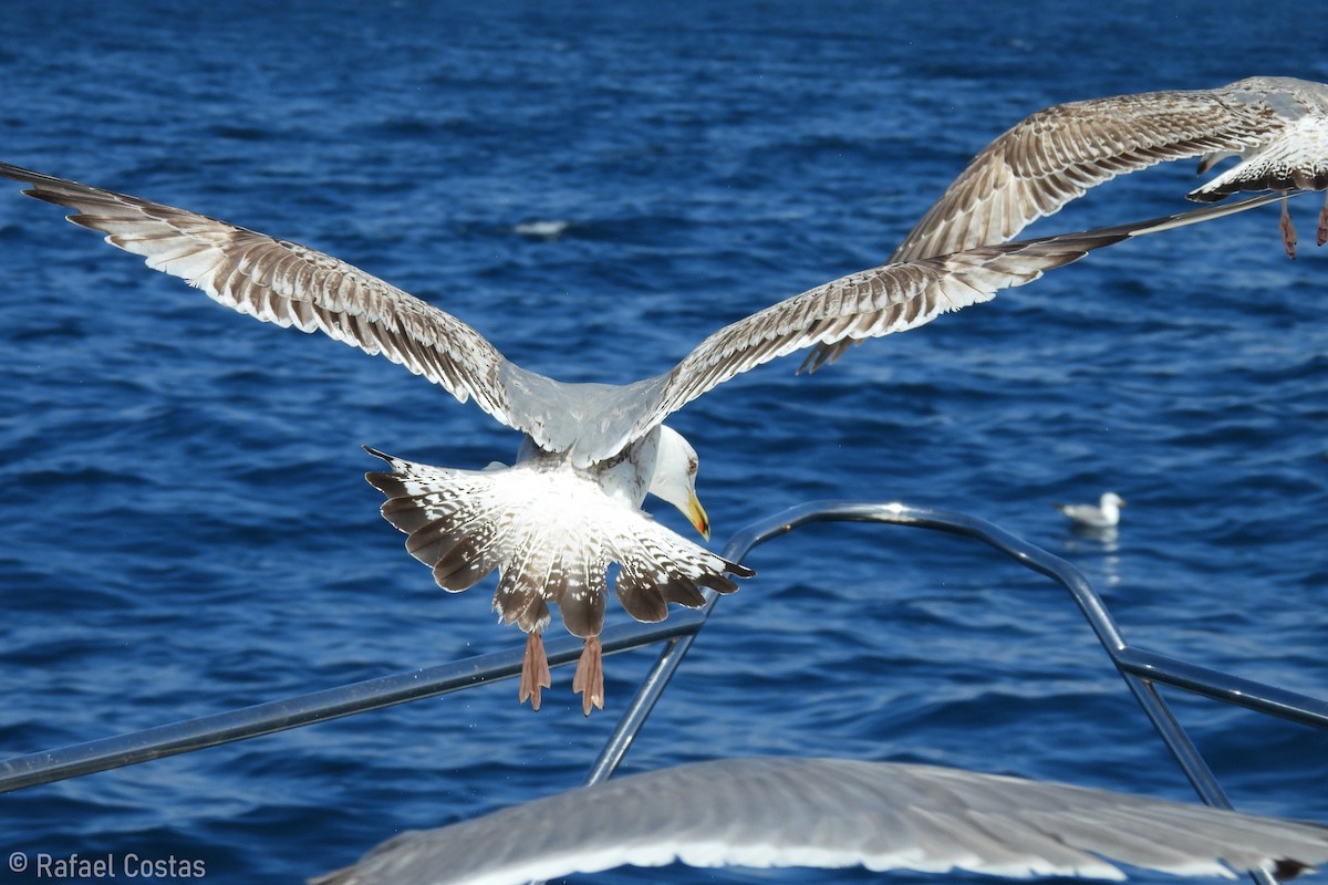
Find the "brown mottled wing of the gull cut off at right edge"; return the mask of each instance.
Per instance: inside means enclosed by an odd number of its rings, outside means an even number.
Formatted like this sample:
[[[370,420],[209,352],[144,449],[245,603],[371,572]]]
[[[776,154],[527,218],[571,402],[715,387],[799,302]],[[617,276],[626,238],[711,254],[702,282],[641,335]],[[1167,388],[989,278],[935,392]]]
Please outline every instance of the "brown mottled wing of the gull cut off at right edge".
[[[1155,163],[1242,155],[1276,143],[1288,125],[1301,119],[1321,130],[1328,122],[1324,89],[1308,81],[1255,77],[1220,89],[1046,107],[977,154],[891,261],[1004,243],[1089,188]]]

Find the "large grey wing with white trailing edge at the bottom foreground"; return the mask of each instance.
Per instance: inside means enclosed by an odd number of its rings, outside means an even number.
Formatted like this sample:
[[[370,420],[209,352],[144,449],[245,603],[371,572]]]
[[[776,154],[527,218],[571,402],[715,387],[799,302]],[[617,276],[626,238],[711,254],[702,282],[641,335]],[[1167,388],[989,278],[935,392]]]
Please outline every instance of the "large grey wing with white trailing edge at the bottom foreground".
[[[679,766],[408,832],[317,885],[513,885],[624,864],[1295,876],[1328,828],[1104,789],[843,759]]]

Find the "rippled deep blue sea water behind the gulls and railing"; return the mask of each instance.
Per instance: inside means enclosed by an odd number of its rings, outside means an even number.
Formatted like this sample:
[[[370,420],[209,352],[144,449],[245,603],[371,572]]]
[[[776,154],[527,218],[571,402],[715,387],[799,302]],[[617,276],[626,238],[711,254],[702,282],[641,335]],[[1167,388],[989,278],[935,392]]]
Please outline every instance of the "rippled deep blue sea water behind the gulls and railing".
[[[622,382],[880,263],[1038,107],[1328,80],[1321,41],[1288,33],[1301,12],[11,0],[0,157],[315,245],[522,365]],[[1104,186],[1031,232],[1186,208],[1193,171]],[[405,553],[360,448],[482,467],[514,434],[4,190],[0,750],[519,646],[485,589],[444,594]],[[826,498],[968,511],[1076,563],[1138,645],[1323,697],[1328,265],[1317,203],[1292,211],[1295,261],[1270,207],[1113,247],[810,377],[791,358],[724,385],[671,421],[717,539]],[[1106,488],[1129,500],[1114,541],[1050,507]],[[749,564],[627,768],[847,755],[1191,795],[1069,600],[985,548],[819,525]],[[539,714],[503,682],[11,793],[0,854],[299,881],[578,784],[653,657],[611,658],[588,719],[560,670]],[[1239,807],[1328,819],[1324,735],[1174,701]],[[661,877],[869,876],[595,881]]]

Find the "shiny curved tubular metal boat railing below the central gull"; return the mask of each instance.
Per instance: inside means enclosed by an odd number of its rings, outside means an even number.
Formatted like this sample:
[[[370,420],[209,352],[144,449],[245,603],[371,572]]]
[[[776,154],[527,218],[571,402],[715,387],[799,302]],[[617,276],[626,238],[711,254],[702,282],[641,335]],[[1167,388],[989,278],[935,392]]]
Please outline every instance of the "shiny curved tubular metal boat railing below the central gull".
[[[1301,724],[1328,728],[1328,701],[1242,679],[1129,645],[1105,602],[1078,569],[1003,528],[967,513],[898,503],[813,502],[742,528],[729,540],[724,548],[724,556],[733,561],[741,561],[754,547],[801,525],[834,521],[884,523],[972,537],[1064,586],[1084,613],[1102,647],[1112,657],[1116,669],[1153,722],[1171,755],[1203,801],[1210,805],[1230,808],[1231,803],[1222,792],[1203,756],[1158,694],[1157,686],[1159,683]],[[606,742],[599,758],[591,766],[587,783],[608,778],[623,760],[718,600],[718,596],[712,590],[705,590],[705,596],[706,602],[703,608],[677,610],[663,624],[629,624],[604,632],[602,638],[607,654],[655,642],[665,645]],[[562,637],[548,641],[546,649],[550,666],[560,666],[580,655],[580,641]],[[0,763],[0,792],[256,738],[406,701],[459,691],[494,679],[513,678],[521,673],[521,665],[522,651],[515,649],[509,653],[466,658],[145,731],[17,756]],[[1264,873],[1254,873],[1252,876],[1260,885],[1274,885],[1275,882]]]

